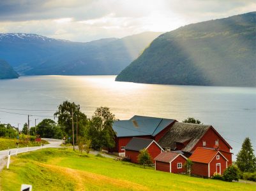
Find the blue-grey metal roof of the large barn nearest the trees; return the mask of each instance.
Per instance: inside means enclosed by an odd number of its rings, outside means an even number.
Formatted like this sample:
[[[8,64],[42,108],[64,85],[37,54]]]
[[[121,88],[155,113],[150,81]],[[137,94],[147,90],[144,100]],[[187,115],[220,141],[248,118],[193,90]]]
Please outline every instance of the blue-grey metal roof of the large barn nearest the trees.
[[[118,120],[112,125],[117,138],[129,136],[156,136],[175,120],[135,115],[130,120]]]

